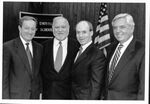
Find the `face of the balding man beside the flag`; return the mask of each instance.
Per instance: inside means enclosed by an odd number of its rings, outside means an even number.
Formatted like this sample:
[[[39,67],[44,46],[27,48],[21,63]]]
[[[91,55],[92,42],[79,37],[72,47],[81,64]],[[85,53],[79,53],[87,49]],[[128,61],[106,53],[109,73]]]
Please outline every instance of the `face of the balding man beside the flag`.
[[[83,46],[92,40],[93,31],[90,31],[87,22],[82,21],[76,26],[76,37],[79,43]]]

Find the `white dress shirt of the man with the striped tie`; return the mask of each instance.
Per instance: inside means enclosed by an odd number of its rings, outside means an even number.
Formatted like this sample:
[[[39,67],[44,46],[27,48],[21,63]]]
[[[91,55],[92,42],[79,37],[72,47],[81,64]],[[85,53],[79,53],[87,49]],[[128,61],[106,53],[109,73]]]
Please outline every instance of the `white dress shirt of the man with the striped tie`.
[[[123,53],[125,52],[126,48],[127,48],[128,45],[130,44],[130,42],[132,41],[132,39],[133,39],[133,36],[131,36],[126,42],[122,43],[123,47],[122,47],[121,50],[120,50],[121,53],[120,53],[120,56],[119,56],[119,58],[118,58],[118,60],[117,60],[116,65],[118,64],[118,62],[119,62],[121,56],[122,56]],[[117,45],[116,50],[117,50],[117,48],[118,48],[119,45],[120,45],[120,43]],[[110,66],[111,66],[111,64],[112,64],[112,59],[114,58],[114,55],[115,55],[115,53],[116,53],[116,50],[115,50],[115,52],[114,52],[114,54],[113,54],[113,56],[112,56],[112,58],[111,58],[111,60],[110,60],[109,68],[110,68]],[[115,65],[115,67],[116,67],[116,65]]]

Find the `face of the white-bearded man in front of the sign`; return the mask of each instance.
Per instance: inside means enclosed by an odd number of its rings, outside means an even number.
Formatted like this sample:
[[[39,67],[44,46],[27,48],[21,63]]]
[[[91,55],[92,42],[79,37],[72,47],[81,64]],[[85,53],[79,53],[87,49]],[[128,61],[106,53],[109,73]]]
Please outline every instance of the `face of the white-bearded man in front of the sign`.
[[[57,17],[53,22],[53,33],[56,39],[62,41],[69,35],[69,24],[63,17]]]

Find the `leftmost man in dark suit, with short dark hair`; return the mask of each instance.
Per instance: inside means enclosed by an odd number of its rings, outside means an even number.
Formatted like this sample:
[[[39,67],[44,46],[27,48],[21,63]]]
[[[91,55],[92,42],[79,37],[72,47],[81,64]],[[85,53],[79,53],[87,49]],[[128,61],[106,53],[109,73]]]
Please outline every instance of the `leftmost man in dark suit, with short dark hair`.
[[[19,21],[19,37],[3,45],[3,99],[38,99],[42,46],[33,37],[37,21],[24,16]]]

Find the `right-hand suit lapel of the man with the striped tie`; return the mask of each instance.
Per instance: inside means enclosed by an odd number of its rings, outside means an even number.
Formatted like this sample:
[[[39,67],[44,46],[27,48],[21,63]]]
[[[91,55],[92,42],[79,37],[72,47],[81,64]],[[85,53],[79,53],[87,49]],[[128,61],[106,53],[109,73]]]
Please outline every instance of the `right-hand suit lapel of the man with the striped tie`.
[[[134,46],[135,42],[134,40],[132,40],[132,42],[129,44],[122,57],[120,58],[110,83],[113,82],[113,80],[115,80],[115,78],[119,75],[119,73],[124,69],[124,67],[128,64],[129,60],[132,58],[135,50]]]

